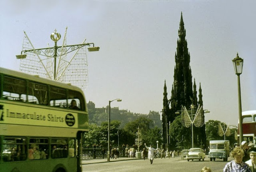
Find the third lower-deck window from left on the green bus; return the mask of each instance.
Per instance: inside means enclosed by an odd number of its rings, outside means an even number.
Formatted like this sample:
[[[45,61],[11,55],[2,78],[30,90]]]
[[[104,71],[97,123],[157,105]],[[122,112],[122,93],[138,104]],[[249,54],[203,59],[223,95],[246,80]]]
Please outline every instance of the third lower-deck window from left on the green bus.
[[[54,138],[52,139],[52,158],[67,158],[68,157],[68,141],[67,139]]]

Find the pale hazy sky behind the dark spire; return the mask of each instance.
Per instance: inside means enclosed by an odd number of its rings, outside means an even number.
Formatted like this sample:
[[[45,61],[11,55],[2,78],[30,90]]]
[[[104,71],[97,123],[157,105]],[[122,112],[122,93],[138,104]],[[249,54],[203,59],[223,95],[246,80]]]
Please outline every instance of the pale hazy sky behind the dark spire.
[[[86,100],[111,102],[134,113],[162,114],[164,80],[171,89],[180,14],[190,52],[192,80],[201,83],[208,120],[238,123],[238,80],[232,59],[244,59],[242,111],[256,110],[255,0],[0,0],[0,67],[19,70],[24,32],[35,48],[54,46],[50,34],[67,30],[67,45],[86,38]],[[62,39],[61,39],[62,40]],[[60,40],[60,42],[61,42]],[[61,45],[61,43],[59,43]]]

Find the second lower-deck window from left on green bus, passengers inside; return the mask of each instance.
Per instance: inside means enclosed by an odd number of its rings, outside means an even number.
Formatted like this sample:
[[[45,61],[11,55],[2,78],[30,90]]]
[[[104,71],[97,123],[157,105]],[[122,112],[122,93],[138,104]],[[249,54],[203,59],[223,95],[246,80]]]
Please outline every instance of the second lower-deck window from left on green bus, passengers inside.
[[[49,144],[47,138],[30,138],[28,158],[30,160],[48,159]]]

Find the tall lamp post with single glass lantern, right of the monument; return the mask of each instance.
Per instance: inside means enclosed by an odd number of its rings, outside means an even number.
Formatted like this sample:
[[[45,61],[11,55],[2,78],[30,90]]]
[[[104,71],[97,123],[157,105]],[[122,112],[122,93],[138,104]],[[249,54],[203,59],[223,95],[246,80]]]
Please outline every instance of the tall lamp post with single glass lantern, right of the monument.
[[[234,70],[238,80],[238,113],[239,113],[239,144],[243,141],[243,128],[242,128],[242,105],[241,105],[241,89],[240,89],[240,74],[242,74],[244,60],[236,54],[236,58],[232,60]]]

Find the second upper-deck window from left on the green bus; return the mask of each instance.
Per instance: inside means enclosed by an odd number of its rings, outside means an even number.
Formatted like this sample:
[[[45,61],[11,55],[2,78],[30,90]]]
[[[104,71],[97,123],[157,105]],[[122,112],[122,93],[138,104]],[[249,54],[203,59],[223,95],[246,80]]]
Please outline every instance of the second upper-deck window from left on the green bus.
[[[36,82],[28,82],[28,102],[47,104],[47,86]]]

